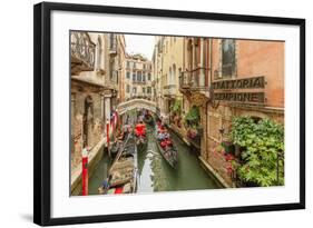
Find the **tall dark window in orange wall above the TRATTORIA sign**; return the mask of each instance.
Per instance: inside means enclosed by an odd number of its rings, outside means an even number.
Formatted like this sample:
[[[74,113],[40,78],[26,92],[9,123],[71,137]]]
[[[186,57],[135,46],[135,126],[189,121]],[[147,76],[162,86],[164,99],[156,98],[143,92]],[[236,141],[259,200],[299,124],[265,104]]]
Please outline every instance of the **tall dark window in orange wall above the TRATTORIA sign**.
[[[222,40],[222,78],[232,78],[236,70],[236,49],[234,39]]]

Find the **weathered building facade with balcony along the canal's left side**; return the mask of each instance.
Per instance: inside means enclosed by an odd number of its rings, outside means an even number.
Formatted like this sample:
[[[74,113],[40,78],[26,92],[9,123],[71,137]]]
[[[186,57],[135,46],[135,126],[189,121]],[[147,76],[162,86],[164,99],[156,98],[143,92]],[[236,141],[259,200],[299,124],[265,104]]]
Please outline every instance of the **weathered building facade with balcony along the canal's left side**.
[[[125,41],[121,34],[71,32],[71,165],[84,148],[104,143],[106,122],[119,99]],[[97,147],[99,148],[99,147]]]

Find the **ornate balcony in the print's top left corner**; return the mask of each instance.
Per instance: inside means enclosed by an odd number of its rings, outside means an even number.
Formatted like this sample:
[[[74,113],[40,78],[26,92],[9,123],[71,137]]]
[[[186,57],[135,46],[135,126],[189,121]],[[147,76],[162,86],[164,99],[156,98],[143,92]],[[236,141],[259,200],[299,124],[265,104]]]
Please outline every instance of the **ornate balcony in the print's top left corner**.
[[[96,44],[90,41],[87,32],[71,32],[71,75],[92,71],[95,68]]]

